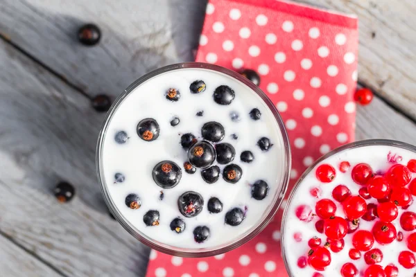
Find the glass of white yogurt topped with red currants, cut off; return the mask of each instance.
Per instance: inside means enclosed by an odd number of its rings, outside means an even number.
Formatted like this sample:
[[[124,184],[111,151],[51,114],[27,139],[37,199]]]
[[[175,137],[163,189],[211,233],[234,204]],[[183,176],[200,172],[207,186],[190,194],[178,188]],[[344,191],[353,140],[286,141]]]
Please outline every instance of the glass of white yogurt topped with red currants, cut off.
[[[282,222],[292,277],[416,274],[416,147],[349,143],[315,161],[293,189]]]

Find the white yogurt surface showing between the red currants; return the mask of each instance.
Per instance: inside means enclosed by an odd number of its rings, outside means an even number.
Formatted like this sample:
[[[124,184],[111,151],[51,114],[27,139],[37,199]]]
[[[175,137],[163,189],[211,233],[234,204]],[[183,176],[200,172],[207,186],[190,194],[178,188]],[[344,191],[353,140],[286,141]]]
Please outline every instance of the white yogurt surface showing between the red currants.
[[[302,204],[309,205],[313,209],[312,211],[314,213],[316,202],[318,202],[320,199],[328,198],[333,200],[337,206],[336,216],[345,218],[343,206],[339,202],[336,202],[336,200],[332,197],[333,188],[339,184],[343,184],[347,186],[349,190],[351,190],[352,195],[358,195],[358,190],[363,186],[360,186],[352,181],[352,168],[354,168],[357,163],[368,163],[372,167],[373,172],[385,172],[392,166],[392,163],[388,163],[389,152],[390,156],[394,154],[397,155],[396,157],[400,156],[401,161],[399,161],[399,163],[404,165],[406,165],[410,159],[416,159],[415,152],[410,152],[404,148],[385,145],[364,146],[343,150],[342,152],[333,154],[331,157],[324,159],[324,161],[318,163],[309,172],[309,174],[304,177],[302,183],[297,186],[290,203],[288,203],[286,218],[284,222],[284,255],[286,256],[286,261],[289,267],[289,271],[291,272],[291,276],[309,277],[312,276],[313,272],[320,272],[320,274],[322,274],[324,277],[341,276],[341,267],[343,267],[346,262],[352,262],[354,265],[356,265],[358,271],[365,271],[365,269],[367,269],[368,265],[366,265],[364,260],[365,252],[361,252],[361,258],[359,260],[352,260],[349,258],[349,249],[354,248],[352,246],[352,235],[354,235],[354,233],[347,234],[345,236],[345,247],[342,251],[338,253],[333,253],[333,251],[330,251],[331,265],[329,265],[325,271],[316,271],[309,265],[306,265],[304,269],[298,267],[298,258],[300,258],[300,256],[307,257],[307,253],[310,249],[308,247],[308,240],[313,238],[313,236],[316,236],[322,240],[321,246],[323,246],[323,244],[327,241],[327,238],[324,234],[318,233],[318,231],[315,229],[315,222],[319,220],[319,217],[315,217],[311,222],[302,222],[296,217],[295,209],[297,206]],[[349,161],[351,164],[351,167],[345,173],[340,172],[339,170],[339,164],[341,161]],[[336,169],[336,178],[329,184],[320,183],[320,181],[318,181],[318,179],[315,177],[315,170],[322,163],[328,163]],[[416,174],[413,173],[413,178],[415,177]],[[312,197],[309,193],[309,190],[313,187],[318,187],[322,191],[322,195],[319,199]],[[366,200],[366,202],[367,204],[378,204],[374,198]],[[413,204],[406,211],[416,212],[416,202],[413,202]],[[401,251],[408,250],[406,246],[406,239],[408,235],[412,233],[401,229],[400,217],[402,213],[404,213],[404,210],[399,208],[399,215],[397,216],[397,219],[392,222],[392,224],[395,225],[397,232],[401,231],[404,234],[404,239],[401,242],[395,240],[387,245],[381,245],[374,241],[373,249],[378,248],[383,252],[383,260],[377,265],[381,265],[384,268],[386,265],[393,263],[399,269],[399,276],[413,276],[413,274],[415,274],[415,269],[405,269],[399,265],[398,262],[399,253]],[[358,230],[371,231],[372,226],[374,226],[374,223],[378,220],[378,217],[372,222],[367,222],[363,219],[360,219],[360,226],[358,227]],[[302,234],[301,242],[296,242],[293,238],[293,234],[297,232]],[[358,274],[357,276],[361,275]]]

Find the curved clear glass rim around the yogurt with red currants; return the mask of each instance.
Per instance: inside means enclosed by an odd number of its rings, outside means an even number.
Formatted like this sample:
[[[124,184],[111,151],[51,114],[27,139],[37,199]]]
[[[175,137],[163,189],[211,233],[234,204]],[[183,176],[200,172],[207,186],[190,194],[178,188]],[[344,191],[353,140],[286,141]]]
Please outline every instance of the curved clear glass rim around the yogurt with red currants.
[[[313,168],[315,168],[315,166],[318,165],[318,163],[321,163],[325,159],[333,156],[334,154],[338,154],[339,152],[343,152],[345,150],[367,147],[367,146],[372,146],[372,145],[395,146],[397,148],[403,148],[405,150],[410,150],[410,151],[416,153],[416,146],[415,145],[411,145],[410,143],[404,143],[402,141],[395,141],[395,140],[391,140],[391,139],[365,139],[365,140],[362,140],[362,141],[354,141],[352,143],[347,143],[345,145],[341,145],[338,148],[335,148],[335,149],[331,150],[327,154],[322,155],[319,159],[314,161],[311,164],[311,166],[306,168],[306,170],[303,172],[303,174],[300,176],[300,178],[297,179],[296,184],[293,186],[293,188],[291,190],[291,193],[288,196],[286,206],[284,208],[284,213],[281,217],[281,226],[280,226],[281,256],[284,260],[284,266],[286,268],[286,271],[288,272],[288,275],[290,277],[296,277],[296,276],[293,276],[293,274],[291,272],[291,268],[288,265],[288,258],[286,257],[286,254],[285,254],[286,251],[285,251],[285,248],[284,248],[284,246],[285,246],[284,242],[285,242],[285,238],[286,238],[286,236],[285,236],[286,218],[287,218],[287,213],[288,213],[288,207],[291,204],[291,200],[294,197],[297,189],[300,187],[300,184],[302,184],[303,179],[306,177],[306,175],[309,175],[309,173],[313,170]]]

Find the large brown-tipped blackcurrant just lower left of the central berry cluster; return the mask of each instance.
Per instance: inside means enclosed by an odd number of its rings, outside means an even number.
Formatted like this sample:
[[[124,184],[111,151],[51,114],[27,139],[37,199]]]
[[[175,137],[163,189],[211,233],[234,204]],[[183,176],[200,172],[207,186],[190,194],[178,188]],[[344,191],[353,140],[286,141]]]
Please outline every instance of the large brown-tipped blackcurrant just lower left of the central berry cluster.
[[[153,168],[153,180],[161,188],[173,188],[182,177],[182,170],[173,161],[161,161]]]

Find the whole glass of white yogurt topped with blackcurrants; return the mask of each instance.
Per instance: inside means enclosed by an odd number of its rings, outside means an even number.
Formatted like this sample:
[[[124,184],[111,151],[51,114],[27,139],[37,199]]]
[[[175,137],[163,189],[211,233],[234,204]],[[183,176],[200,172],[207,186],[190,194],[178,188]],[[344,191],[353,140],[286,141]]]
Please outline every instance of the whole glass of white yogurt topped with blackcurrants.
[[[114,217],[176,256],[239,247],[275,215],[290,148],[275,106],[220,66],[166,66],[133,83],[105,118],[98,179]]]

